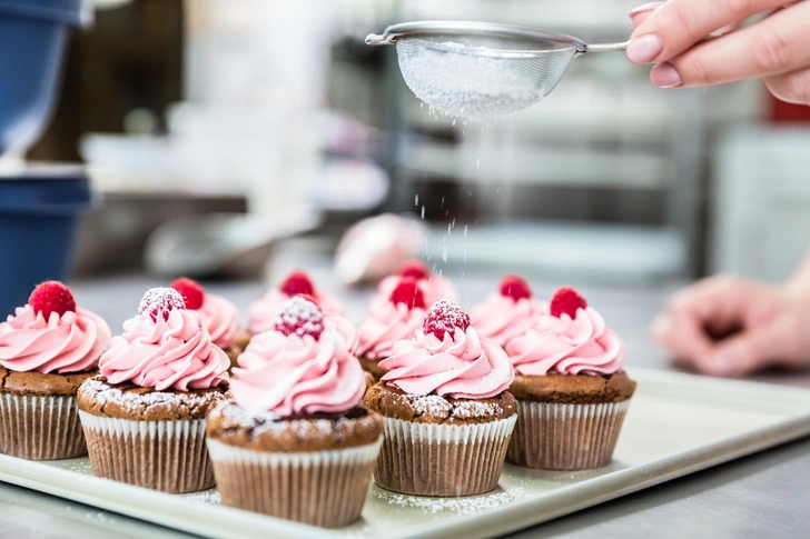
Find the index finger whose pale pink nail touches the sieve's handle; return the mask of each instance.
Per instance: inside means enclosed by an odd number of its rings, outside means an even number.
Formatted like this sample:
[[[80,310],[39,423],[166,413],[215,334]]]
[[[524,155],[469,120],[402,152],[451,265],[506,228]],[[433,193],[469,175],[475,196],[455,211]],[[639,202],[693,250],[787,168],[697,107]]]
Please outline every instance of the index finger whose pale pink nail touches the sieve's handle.
[[[633,31],[628,58],[633,63],[665,62],[727,24],[784,3],[784,0],[670,0]]]

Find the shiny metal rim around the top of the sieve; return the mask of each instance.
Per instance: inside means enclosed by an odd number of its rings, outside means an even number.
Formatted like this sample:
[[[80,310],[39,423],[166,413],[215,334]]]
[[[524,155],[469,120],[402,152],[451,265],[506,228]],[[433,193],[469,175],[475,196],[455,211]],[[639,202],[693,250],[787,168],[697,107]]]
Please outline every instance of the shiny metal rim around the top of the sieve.
[[[448,36],[470,36],[470,34],[487,34],[500,36],[504,38],[521,38],[534,41],[551,41],[556,43],[569,44],[576,49],[579,53],[587,52],[587,43],[579,38],[560,32],[549,30],[539,30],[536,28],[518,27],[513,24],[498,24],[494,22],[475,22],[475,21],[414,21],[401,22],[389,26],[382,34],[369,33],[366,37],[367,44],[394,44],[401,37],[414,34],[448,34]],[[559,50],[559,49],[556,49]]]

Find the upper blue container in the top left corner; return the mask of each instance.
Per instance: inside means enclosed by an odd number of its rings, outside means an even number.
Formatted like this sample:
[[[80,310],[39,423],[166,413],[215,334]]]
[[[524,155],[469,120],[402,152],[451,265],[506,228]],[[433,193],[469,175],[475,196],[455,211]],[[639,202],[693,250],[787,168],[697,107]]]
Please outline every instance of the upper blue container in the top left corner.
[[[24,151],[53,111],[68,29],[81,0],[0,0],[0,154]]]

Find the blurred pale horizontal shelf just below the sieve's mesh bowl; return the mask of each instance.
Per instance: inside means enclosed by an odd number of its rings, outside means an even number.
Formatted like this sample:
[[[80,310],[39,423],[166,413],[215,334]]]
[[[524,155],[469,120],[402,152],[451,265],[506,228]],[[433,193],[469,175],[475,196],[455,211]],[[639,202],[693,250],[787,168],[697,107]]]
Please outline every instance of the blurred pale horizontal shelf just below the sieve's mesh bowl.
[[[402,169],[462,181],[601,186],[661,189],[672,178],[672,162],[655,153],[592,148],[493,148],[405,141],[398,153]]]

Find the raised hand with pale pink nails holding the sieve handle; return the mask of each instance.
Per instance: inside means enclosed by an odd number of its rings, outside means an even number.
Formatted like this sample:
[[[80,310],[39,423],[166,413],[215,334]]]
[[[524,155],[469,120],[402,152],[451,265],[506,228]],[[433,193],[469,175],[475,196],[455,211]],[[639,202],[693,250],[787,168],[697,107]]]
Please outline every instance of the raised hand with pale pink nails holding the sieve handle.
[[[718,30],[773,10],[745,28]],[[777,98],[810,104],[810,1],[670,0],[630,12],[635,30],[628,58],[654,63],[661,88],[693,88],[762,79]]]

